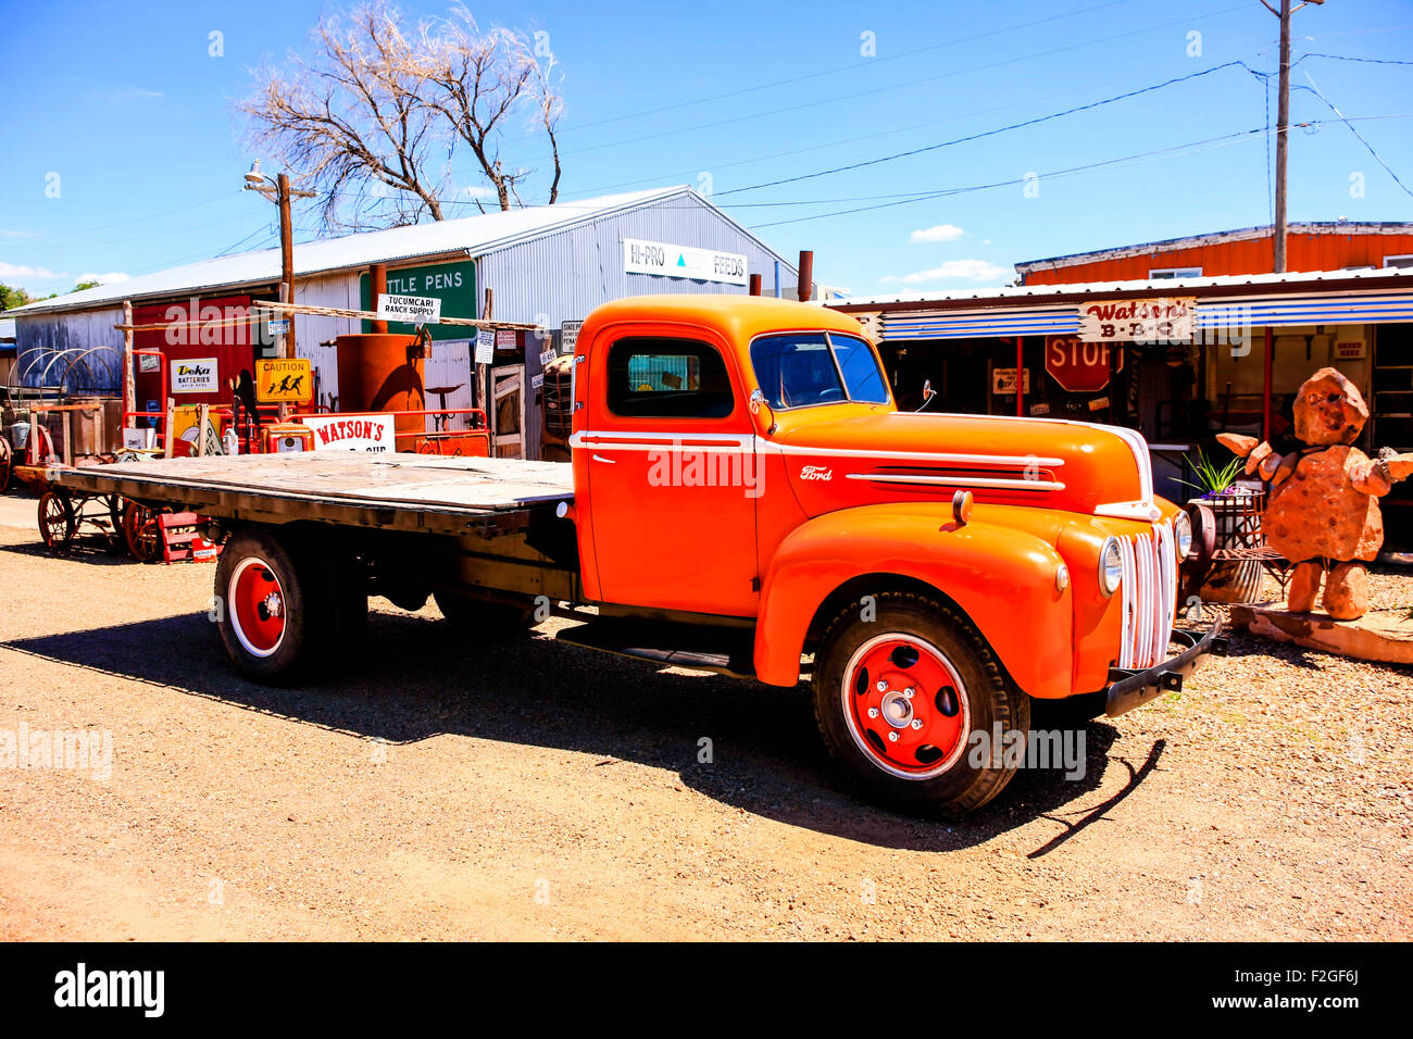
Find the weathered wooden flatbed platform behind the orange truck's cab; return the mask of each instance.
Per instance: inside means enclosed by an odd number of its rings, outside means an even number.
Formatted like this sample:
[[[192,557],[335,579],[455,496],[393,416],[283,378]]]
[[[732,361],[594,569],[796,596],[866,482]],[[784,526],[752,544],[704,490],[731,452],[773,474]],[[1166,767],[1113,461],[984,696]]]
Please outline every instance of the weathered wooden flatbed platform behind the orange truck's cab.
[[[58,469],[54,482],[230,520],[444,534],[506,532],[574,498],[567,462],[352,451],[119,462]]]

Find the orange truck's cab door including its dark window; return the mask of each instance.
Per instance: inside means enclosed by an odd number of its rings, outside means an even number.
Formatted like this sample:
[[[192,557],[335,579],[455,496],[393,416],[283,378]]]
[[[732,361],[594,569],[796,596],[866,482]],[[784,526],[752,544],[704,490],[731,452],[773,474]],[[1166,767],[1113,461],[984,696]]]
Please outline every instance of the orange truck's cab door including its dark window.
[[[575,447],[601,598],[755,615],[762,488],[732,353],[681,331],[619,325],[588,366],[589,421]]]

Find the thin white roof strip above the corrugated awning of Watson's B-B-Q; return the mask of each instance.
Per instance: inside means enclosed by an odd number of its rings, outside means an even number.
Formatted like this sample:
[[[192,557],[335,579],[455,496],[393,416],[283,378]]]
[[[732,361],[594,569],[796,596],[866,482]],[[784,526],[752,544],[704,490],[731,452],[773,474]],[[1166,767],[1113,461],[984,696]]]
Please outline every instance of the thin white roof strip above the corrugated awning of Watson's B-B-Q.
[[[1359,288],[1361,281],[1399,280],[1413,286],[1413,269],[1409,267],[1361,267],[1359,270],[1307,270],[1286,274],[1214,274],[1195,278],[1153,278],[1135,281],[1074,281],[1056,286],[1005,286],[992,288],[950,288],[934,293],[890,293],[880,295],[827,300],[824,305],[846,310],[868,307],[927,307],[958,301],[1015,303],[1022,300],[1044,301],[1084,295],[1109,295],[1115,293],[1160,293],[1163,295],[1202,294],[1202,290],[1231,290],[1249,286],[1252,293],[1260,293],[1272,286],[1289,286],[1290,290],[1330,286],[1334,290]]]

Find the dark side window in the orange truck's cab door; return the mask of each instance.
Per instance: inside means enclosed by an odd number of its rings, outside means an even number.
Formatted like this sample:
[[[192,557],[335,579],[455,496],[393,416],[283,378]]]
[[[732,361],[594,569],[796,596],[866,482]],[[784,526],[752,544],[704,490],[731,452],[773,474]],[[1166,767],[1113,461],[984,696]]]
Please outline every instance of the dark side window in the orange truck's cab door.
[[[625,418],[725,418],[736,401],[716,348],[630,336],[609,348],[608,404]]]

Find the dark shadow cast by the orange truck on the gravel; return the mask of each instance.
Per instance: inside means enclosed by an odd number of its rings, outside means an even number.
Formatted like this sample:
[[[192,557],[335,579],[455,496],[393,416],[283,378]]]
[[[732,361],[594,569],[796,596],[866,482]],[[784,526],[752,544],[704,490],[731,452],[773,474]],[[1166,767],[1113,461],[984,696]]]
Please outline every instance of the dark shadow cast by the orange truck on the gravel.
[[[966,848],[1044,817],[1064,830],[1029,854],[1048,854],[1136,789],[1161,753],[1159,741],[1146,762],[1111,759],[1118,732],[1091,721],[1078,727],[1085,734],[1082,776],[1022,769],[972,816],[911,818],[844,787],[803,686],[666,673],[544,636],[483,645],[435,618],[374,612],[367,638],[335,667],[285,688],[239,677],[203,614],[0,645],[369,741],[411,745],[462,735],[591,755],[593,768],[646,765],[743,811],[913,851]],[[1094,804],[1091,794],[1111,766],[1126,770],[1125,785]],[[572,783],[567,775],[567,787]]]

